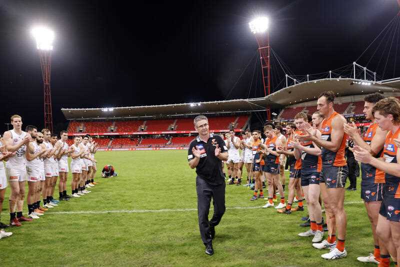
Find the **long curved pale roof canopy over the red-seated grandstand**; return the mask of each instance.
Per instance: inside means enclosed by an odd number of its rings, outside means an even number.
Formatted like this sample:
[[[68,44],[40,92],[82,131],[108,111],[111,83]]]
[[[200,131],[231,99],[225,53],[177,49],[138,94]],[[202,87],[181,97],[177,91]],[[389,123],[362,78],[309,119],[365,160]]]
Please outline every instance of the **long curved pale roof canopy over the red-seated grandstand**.
[[[226,101],[182,103],[156,106],[61,109],[67,120],[173,118],[196,114],[223,114],[263,111],[316,99],[323,91],[338,96],[365,95],[374,92],[400,92],[400,78],[379,82],[349,78],[320,79],[285,87],[266,97]]]

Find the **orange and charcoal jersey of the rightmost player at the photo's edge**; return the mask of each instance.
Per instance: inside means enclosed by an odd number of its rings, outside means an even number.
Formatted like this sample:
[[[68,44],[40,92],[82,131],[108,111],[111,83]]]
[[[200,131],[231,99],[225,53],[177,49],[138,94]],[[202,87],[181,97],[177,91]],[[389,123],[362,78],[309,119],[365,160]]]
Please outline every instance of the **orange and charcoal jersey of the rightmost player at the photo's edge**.
[[[383,158],[387,163],[397,163],[397,146],[393,139],[398,138],[400,128],[392,134],[391,131],[386,136],[383,146]],[[400,198],[400,177],[385,173],[384,198],[386,196]],[[387,195],[386,195],[387,194]]]

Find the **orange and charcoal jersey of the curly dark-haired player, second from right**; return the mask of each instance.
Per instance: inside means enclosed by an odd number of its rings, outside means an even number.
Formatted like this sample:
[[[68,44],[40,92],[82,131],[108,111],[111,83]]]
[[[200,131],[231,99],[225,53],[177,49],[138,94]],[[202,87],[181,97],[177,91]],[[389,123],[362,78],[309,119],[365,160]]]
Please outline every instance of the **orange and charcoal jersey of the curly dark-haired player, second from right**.
[[[362,139],[364,140],[365,143],[368,145],[371,143],[373,136],[376,133],[376,129],[378,128],[377,123],[373,123],[369,125],[368,129],[365,131],[364,136]],[[376,158],[379,158],[382,156],[382,151],[379,151],[379,153],[376,154]],[[384,183],[384,172],[376,169],[370,164],[366,163],[361,163],[361,183],[363,185],[368,185],[368,184],[374,184],[374,183]]]

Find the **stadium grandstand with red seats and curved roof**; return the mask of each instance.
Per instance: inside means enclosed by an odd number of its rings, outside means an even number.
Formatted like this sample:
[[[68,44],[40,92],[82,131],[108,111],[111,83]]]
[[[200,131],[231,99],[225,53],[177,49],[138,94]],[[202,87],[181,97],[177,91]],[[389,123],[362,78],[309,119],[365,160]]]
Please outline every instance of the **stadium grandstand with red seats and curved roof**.
[[[210,131],[224,133],[229,129],[242,132],[252,128],[259,113],[268,108],[278,113],[275,122],[285,124],[300,111],[316,111],[317,96],[327,90],[337,94],[334,109],[358,126],[363,123],[363,97],[380,92],[400,98],[400,79],[361,81],[327,78],[305,81],[285,87],[266,97],[228,101],[183,103],[159,106],[62,109],[68,135],[90,134],[104,150],[183,149],[195,137],[193,118],[206,114]]]

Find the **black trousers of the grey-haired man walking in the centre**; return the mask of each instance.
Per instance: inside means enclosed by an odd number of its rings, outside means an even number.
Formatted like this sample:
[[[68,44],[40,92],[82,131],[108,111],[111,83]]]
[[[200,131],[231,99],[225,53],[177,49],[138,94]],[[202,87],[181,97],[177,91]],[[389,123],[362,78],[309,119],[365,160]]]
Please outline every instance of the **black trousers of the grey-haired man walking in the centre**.
[[[208,235],[209,226],[216,226],[225,213],[225,183],[210,185],[203,179],[196,177],[197,214],[201,240],[204,244],[211,242]],[[214,205],[214,214],[208,221],[208,212],[211,203]]]

